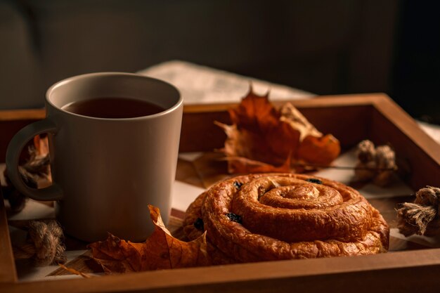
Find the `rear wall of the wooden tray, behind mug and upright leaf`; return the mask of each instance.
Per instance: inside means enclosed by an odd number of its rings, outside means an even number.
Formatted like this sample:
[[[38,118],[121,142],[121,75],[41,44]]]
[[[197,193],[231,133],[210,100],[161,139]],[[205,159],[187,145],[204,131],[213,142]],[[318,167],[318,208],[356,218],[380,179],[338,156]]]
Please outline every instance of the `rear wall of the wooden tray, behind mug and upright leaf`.
[[[369,134],[371,98],[354,95],[346,98],[292,100],[309,121],[324,134],[333,134],[349,148]],[[285,101],[274,101],[280,107]],[[354,104],[354,105],[352,105]],[[237,104],[186,105],[183,108],[180,152],[212,151],[222,148],[226,135],[214,121],[230,124],[228,109]],[[27,124],[43,119],[44,110],[0,111],[0,162],[13,135]]]

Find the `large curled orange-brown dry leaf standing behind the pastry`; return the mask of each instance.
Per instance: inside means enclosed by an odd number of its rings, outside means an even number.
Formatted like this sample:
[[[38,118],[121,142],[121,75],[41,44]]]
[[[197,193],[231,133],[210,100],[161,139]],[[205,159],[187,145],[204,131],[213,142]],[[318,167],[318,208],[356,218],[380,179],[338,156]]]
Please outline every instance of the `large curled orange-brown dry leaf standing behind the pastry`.
[[[216,124],[227,136],[223,151],[230,173],[290,171],[296,162],[330,164],[339,155],[334,136],[323,136],[290,103],[277,110],[252,87],[229,115],[233,125]]]

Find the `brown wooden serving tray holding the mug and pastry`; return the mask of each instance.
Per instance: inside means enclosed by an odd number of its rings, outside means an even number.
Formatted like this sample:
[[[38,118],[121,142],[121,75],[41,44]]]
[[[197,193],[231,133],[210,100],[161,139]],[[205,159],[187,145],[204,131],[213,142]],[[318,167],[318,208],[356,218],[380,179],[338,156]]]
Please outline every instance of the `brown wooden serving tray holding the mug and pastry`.
[[[277,102],[273,102],[276,103]],[[279,104],[285,103],[279,102]],[[349,149],[369,138],[391,143],[407,167],[413,190],[440,185],[440,147],[384,94],[327,96],[292,103],[323,133]],[[184,108],[181,152],[220,148],[231,104]],[[43,110],[0,111],[0,158],[8,141]],[[440,249],[370,256],[244,263],[129,273],[91,279],[18,282],[3,200],[0,200],[0,292],[438,292]]]

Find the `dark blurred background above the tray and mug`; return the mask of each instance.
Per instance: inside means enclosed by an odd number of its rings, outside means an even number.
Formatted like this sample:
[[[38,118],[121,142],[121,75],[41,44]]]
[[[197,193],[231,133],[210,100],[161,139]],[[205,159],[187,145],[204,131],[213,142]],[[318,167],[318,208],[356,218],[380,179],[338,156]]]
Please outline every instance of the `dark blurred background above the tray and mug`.
[[[186,60],[318,94],[388,93],[440,124],[436,1],[0,0],[0,109],[48,86]]]

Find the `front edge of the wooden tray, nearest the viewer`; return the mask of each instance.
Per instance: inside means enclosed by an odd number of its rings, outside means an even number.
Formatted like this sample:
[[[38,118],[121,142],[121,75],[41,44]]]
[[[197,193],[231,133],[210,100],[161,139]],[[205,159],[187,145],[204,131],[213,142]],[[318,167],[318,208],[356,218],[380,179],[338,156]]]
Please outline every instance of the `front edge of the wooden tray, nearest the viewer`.
[[[408,263],[411,266],[408,266]],[[0,284],[1,292],[438,292],[440,249]]]

